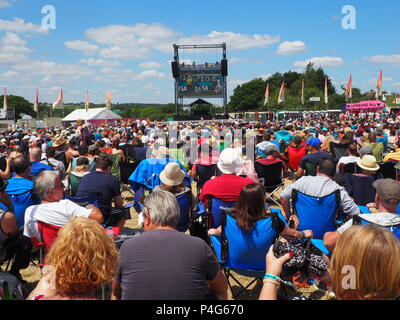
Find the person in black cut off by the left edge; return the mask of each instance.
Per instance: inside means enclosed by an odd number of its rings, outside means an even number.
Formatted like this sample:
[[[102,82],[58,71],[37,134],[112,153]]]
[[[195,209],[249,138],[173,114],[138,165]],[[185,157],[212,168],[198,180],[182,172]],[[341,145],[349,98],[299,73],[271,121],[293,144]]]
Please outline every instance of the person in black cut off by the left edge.
[[[2,182],[3,187],[0,191],[2,204],[0,208],[0,265],[13,259],[10,273],[24,282],[20,270],[29,266],[32,243],[29,238],[21,235],[16,216],[9,210],[3,210],[3,208],[12,207],[12,203],[4,190],[5,183],[3,180]]]

